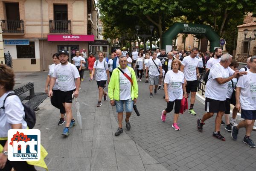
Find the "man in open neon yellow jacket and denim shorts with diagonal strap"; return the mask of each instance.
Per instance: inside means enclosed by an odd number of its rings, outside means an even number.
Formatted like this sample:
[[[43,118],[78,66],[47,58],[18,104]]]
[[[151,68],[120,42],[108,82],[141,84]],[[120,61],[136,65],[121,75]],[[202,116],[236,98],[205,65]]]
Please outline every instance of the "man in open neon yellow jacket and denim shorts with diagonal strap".
[[[116,103],[118,129],[115,136],[123,132],[122,119],[124,104],[126,128],[127,130],[131,129],[129,118],[133,110],[133,104],[136,103],[138,98],[138,84],[134,70],[127,66],[127,58],[125,56],[119,58],[119,64],[119,67],[113,70],[111,80],[108,84],[108,96],[111,100],[111,106]]]

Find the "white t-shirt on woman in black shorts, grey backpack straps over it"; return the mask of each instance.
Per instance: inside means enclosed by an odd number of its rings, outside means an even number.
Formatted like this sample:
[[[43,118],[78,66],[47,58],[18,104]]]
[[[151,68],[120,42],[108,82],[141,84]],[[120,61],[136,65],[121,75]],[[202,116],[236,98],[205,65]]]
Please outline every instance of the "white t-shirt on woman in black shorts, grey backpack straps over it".
[[[96,62],[94,62],[93,68],[95,68],[95,80],[96,81],[102,81],[102,80],[108,80],[108,76],[106,73],[106,70],[108,70],[108,63],[106,61],[100,62],[98,60],[98,64],[96,66]],[[104,63],[105,62],[105,67]]]

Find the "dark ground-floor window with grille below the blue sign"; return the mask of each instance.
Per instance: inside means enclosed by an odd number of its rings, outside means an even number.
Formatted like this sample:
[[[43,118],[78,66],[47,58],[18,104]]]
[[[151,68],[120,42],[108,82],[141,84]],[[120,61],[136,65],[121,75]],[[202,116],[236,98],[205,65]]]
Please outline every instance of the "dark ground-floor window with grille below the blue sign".
[[[30,41],[29,45],[16,45],[17,58],[35,58],[35,42]]]

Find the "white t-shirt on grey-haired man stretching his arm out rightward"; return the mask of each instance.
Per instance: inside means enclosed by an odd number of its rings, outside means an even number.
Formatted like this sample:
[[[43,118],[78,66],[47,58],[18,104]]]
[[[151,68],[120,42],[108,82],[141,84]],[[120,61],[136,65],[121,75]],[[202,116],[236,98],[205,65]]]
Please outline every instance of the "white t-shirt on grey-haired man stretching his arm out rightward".
[[[233,70],[230,68],[224,68],[220,63],[213,65],[209,72],[209,80],[206,84],[205,97],[219,101],[226,100],[228,82],[218,84],[216,78],[228,78],[233,75],[233,73]]]

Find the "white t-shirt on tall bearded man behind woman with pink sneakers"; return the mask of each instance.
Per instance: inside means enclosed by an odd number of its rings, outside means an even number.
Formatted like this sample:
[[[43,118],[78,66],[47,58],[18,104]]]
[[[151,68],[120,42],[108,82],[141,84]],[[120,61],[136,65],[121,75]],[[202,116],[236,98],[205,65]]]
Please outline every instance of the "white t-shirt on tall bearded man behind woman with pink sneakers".
[[[188,81],[197,80],[196,78],[196,67],[198,67],[198,58],[191,58],[190,55],[183,59],[182,65],[184,65],[184,76]]]

